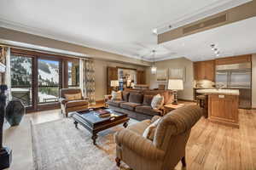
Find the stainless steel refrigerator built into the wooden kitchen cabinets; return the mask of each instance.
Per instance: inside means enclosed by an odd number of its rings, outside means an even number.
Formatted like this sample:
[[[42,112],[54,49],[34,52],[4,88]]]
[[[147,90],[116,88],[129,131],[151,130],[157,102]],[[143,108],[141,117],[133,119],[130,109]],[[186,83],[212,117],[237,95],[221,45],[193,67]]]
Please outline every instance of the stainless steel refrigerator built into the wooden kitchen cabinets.
[[[223,84],[224,88],[228,89],[239,89],[239,108],[252,108],[252,64],[250,62],[217,65],[216,84]]]

